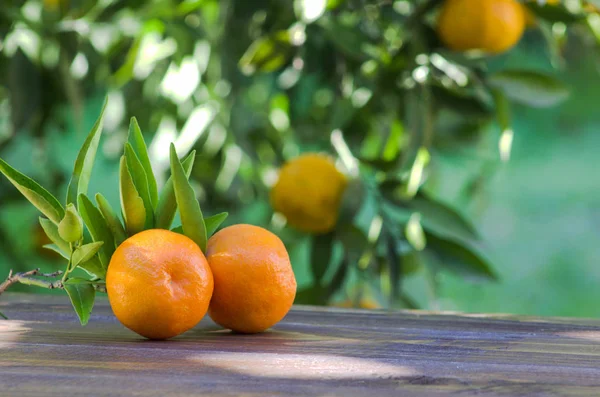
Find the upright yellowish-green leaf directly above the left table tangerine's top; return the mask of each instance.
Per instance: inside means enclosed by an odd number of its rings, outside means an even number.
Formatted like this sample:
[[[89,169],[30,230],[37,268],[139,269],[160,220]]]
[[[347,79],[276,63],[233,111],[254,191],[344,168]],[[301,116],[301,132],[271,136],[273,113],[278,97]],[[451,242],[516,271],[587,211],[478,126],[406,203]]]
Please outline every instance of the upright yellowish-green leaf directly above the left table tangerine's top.
[[[144,200],[135,188],[125,156],[121,157],[119,182],[125,229],[132,236],[144,230],[144,225],[146,224],[146,207],[144,206]]]

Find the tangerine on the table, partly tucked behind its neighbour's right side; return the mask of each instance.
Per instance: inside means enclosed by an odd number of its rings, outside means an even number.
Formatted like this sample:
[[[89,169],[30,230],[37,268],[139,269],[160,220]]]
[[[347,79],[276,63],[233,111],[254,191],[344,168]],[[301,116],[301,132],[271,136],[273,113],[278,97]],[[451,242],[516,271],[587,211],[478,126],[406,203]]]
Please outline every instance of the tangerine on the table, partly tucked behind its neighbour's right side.
[[[222,327],[262,332],[292,307],[296,278],[285,246],[270,231],[226,227],[208,240],[206,258],[215,278],[208,314]]]

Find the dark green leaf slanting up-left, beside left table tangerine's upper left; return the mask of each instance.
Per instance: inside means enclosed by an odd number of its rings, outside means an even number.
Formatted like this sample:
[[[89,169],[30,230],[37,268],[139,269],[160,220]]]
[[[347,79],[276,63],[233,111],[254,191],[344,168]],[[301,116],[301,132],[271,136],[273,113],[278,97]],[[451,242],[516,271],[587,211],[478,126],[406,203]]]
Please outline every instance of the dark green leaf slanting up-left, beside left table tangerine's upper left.
[[[104,269],[108,269],[110,258],[115,252],[115,239],[102,217],[102,214],[94,206],[92,201],[84,194],[80,194],[78,198],[79,213],[83,218],[94,242],[104,242],[98,252],[98,258]]]

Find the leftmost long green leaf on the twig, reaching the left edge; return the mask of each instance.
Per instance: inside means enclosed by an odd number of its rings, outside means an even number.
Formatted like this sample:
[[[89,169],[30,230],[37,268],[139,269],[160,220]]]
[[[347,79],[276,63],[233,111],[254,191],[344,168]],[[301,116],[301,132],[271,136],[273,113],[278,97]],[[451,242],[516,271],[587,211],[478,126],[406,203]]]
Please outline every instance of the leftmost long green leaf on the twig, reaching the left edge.
[[[31,204],[55,224],[59,224],[65,216],[65,209],[60,202],[36,181],[12,168],[0,159],[0,172],[8,178]]]

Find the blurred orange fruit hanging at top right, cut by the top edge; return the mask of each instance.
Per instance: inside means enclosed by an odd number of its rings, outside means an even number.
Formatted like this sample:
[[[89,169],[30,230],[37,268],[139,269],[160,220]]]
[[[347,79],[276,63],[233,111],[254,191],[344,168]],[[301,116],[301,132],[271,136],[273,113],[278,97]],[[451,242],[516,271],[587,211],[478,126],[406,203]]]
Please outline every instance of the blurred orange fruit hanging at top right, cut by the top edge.
[[[516,0],[445,0],[437,30],[452,50],[497,54],[521,39],[525,11]]]

